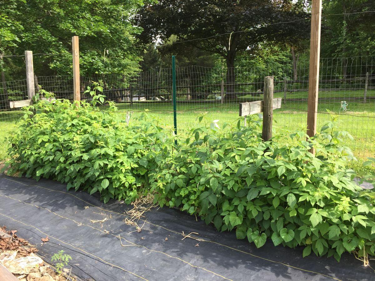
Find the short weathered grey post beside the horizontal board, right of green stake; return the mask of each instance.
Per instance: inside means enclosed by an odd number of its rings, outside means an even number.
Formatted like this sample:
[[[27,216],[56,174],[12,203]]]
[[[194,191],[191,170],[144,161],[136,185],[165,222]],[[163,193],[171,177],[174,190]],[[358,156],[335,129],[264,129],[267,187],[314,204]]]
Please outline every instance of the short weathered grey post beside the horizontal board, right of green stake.
[[[263,129],[262,139],[268,141],[272,138],[272,120],[273,120],[273,76],[264,78],[263,92]]]

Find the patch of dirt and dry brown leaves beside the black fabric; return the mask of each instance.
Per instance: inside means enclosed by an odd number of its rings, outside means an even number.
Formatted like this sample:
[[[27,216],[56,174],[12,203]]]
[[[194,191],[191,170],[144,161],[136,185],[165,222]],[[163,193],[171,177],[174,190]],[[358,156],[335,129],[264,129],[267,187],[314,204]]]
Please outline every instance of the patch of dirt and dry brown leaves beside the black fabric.
[[[38,257],[37,248],[16,235],[17,230],[0,227],[0,263],[21,281],[74,280],[58,275]],[[68,272],[69,274],[69,272]]]

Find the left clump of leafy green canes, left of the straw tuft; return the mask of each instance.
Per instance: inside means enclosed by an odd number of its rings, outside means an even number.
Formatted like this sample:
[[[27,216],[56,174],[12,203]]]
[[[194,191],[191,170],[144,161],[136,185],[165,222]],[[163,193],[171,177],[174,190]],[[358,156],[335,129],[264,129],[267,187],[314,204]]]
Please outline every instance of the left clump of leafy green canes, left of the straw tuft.
[[[170,141],[147,113],[127,126],[125,118],[116,118],[112,103],[105,110],[93,106],[104,101],[97,90],[102,90],[98,84],[88,87],[90,103],[52,103],[37,95],[9,138],[9,173],[56,179],[66,182],[68,190],[99,192],[104,202],[135,199]]]

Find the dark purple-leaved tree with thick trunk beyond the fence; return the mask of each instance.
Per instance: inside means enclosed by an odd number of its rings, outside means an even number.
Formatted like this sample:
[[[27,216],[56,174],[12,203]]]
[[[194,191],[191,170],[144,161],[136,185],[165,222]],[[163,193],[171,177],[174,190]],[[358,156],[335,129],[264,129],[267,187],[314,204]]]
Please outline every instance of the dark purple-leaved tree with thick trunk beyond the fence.
[[[175,34],[183,42],[178,45],[225,58],[227,91],[232,93],[226,98],[232,99],[236,55],[256,53],[264,42],[305,37],[307,16],[300,2],[291,0],[160,0],[142,7],[136,22],[144,30],[140,36],[144,42]]]

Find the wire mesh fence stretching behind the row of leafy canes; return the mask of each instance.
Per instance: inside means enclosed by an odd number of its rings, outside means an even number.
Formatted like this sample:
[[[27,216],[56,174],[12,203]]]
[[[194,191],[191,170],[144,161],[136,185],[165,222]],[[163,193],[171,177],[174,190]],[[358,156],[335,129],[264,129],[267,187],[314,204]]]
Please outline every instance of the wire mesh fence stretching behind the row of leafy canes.
[[[309,61],[262,64],[259,67],[188,66],[176,68],[177,129],[183,133],[198,126],[197,117],[205,114],[218,124],[239,118],[239,103],[263,100],[264,77],[275,78],[274,97],[282,106],[274,111],[275,130],[306,130]],[[35,77],[39,87],[57,98],[73,99],[70,76]],[[127,77],[99,75],[81,77],[81,99],[93,81],[101,82],[108,100],[117,103],[119,113],[136,116],[145,109],[166,127],[173,127],[172,69],[155,69]],[[40,85],[40,86],[39,86]],[[20,116],[12,101],[27,99],[26,80],[3,82],[0,87],[0,128]],[[322,58],[318,99],[318,127],[333,114],[339,129],[348,131],[346,140],[357,157],[375,155],[375,57]],[[15,126],[15,125],[12,125]],[[0,148],[1,149],[1,148]]]

